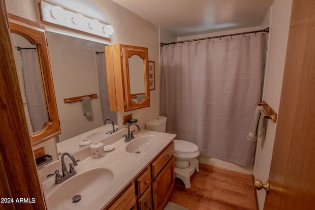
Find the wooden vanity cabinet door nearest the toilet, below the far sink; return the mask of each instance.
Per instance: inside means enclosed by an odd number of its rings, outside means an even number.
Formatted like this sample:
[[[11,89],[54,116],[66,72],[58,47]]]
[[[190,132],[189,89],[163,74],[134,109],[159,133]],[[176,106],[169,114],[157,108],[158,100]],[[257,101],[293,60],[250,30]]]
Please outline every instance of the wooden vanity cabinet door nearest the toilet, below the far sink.
[[[161,170],[158,177],[152,182],[152,197],[154,210],[162,210],[173,189],[175,182],[174,157]]]

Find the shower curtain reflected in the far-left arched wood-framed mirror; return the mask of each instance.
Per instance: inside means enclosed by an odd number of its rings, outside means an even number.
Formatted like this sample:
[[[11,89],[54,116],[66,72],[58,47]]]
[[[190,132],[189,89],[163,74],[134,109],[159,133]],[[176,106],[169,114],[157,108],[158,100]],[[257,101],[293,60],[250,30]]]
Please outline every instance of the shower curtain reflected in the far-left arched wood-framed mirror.
[[[36,50],[21,50],[24,90],[32,130],[40,130],[48,120],[48,112]]]

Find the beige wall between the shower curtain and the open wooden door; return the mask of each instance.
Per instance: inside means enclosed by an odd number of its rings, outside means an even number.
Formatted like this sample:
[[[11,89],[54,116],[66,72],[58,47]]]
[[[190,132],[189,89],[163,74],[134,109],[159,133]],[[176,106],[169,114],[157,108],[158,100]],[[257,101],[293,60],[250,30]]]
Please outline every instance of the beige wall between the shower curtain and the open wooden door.
[[[265,100],[276,113],[279,113],[291,7],[292,0],[275,0],[269,11],[270,33],[263,100]],[[269,21],[267,20],[266,22]],[[278,119],[279,118],[281,118],[281,116],[278,115]],[[257,140],[255,166],[253,170],[255,179],[259,179],[263,183],[266,183],[269,177],[277,127],[277,124],[273,123],[273,121],[267,121],[266,137]],[[257,191],[259,209],[261,210],[264,206],[265,195],[264,190]]]

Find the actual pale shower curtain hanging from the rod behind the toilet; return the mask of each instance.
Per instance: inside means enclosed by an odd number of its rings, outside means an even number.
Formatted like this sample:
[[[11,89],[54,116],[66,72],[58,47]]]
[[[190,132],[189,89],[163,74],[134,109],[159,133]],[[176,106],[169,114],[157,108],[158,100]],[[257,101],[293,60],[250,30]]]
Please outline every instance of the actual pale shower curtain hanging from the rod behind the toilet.
[[[201,157],[252,166],[247,140],[260,102],[267,34],[165,45],[161,53],[160,115],[166,132],[196,144]]]

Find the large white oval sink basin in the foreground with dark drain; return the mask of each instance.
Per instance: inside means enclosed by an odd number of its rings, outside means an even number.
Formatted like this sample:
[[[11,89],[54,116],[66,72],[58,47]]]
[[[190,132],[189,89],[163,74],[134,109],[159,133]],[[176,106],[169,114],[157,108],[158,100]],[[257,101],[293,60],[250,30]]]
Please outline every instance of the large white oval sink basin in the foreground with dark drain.
[[[48,210],[78,210],[87,207],[101,195],[113,180],[112,171],[95,168],[82,174],[75,174],[69,180],[60,183],[46,197]],[[81,200],[72,202],[75,195]]]

